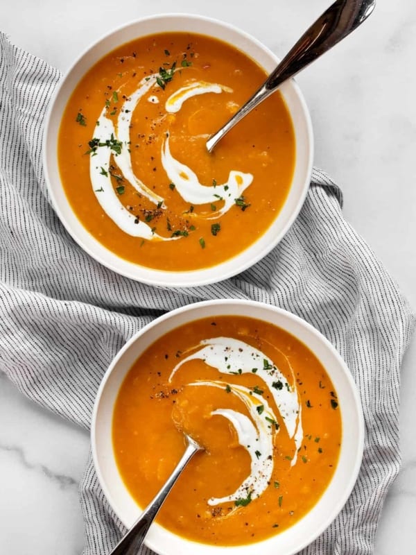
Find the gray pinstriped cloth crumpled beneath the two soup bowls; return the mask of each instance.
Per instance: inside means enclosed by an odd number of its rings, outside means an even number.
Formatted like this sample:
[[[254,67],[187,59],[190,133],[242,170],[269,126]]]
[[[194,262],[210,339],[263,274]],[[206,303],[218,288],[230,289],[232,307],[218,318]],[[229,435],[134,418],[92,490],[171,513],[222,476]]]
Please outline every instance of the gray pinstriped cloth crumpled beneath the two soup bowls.
[[[353,493],[302,555],[371,554],[383,500],[399,472],[400,365],[415,316],[343,218],[338,187],[313,171],[302,212],[284,240],[231,280],[155,289],[122,278],[74,243],[49,203],[42,127],[60,73],[3,34],[0,50],[0,370],[29,398],[87,429],[108,364],[155,316],[216,298],[250,298],[292,311],[343,355],[365,416],[363,465]],[[91,459],[80,504],[84,554],[107,554],[123,527]]]

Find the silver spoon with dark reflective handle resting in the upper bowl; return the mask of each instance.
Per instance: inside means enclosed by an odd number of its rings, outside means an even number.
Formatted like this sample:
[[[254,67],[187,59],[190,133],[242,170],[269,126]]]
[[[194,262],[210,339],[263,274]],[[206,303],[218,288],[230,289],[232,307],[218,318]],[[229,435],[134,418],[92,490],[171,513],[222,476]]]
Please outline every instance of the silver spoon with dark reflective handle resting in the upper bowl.
[[[268,76],[261,87],[234,116],[207,140],[208,152],[259,103],[274,92],[284,81],[295,76],[311,64],[337,42],[347,37],[371,14],[375,0],[337,0],[325,11],[308,31],[300,37],[295,46],[286,54],[275,71]]]

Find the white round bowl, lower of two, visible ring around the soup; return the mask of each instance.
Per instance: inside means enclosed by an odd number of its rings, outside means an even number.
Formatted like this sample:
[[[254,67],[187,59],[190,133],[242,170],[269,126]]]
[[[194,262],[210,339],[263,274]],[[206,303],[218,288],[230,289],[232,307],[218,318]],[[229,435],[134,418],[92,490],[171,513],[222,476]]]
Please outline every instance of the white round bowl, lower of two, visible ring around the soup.
[[[246,300],[197,302],[157,318],[128,341],[108,368],[98,389],[92,416],[92,454],[98,479],[110,505],[126,527],[141,509],[125,487],[112,445],[112,417],[119,388],[146,348],[176,327],[200,318],[250,316],[277,325],[306,345],[324,366],[336,389],[343,436],[338,466],[317,504],[293,527],[250,545],[221,547],[196,543],[153,524],[146,545],[161,555],[293,555],[317,538],[343,508],[354,487],[363,456],[364,423],[356,386],[343,359],[314,327],[283,309]]]

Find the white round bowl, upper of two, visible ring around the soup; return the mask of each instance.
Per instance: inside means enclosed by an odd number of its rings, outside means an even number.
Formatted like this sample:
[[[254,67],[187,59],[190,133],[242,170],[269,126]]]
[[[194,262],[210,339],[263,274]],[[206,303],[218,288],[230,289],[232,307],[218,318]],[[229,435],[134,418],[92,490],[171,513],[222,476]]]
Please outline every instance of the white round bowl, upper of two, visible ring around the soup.
[[[252,266],[277,245],[300,212],[312,171],[313,135],[311,119],[303,96],[292,80],[281,87],[295,130],[296,162],[288,197],[270,228],[250,247],[221,264],[195,271],[163,271],[125,260],[103,246],[80,223],[62,187],[58,168],[58,132],[64,108],[80,78],[105,54],[137,37],[165,31],[189,31],[209,35],[236,46],[256,60],[266,71],[279,61],[259,41],[228,24],[197,15],[157,15],[116,29],[93,44],[69,69],[55,92],[46,117],[44,172],[55,211],[73,239],[98,262],[133,280],[160,286],[197,286],[225,280]]]

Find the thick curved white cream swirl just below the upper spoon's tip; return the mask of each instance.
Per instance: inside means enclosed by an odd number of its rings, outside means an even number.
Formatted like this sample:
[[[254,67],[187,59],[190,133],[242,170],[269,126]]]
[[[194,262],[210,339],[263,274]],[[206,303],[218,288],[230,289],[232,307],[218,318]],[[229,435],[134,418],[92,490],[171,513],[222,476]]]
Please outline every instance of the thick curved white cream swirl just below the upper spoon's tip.
[[[253,180],[251,173],[230,171],[228,180],[223,185],[216,185],[215,187],[202,185],[191,168],[172,156],[169,147],[169,136],[166,137],[162,146],[162,165],[168,174],[168,178],[175,183],[175,189],[187,203],[200,205],[218,203],[220,200],[224,201],[223,207],[212,216],[214,218],[225,214],[235,204],[234,199],[239,198]]]

